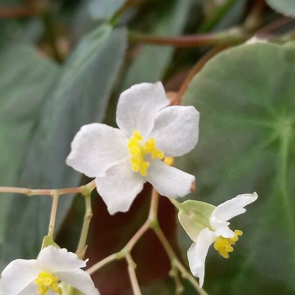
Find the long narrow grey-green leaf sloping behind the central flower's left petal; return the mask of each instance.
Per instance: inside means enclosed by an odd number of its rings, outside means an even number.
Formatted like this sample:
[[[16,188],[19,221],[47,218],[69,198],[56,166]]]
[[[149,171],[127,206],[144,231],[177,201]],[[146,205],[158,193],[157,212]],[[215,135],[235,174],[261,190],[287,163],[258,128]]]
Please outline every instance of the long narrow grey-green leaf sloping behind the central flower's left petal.
[[[103,25],[78,44],[63,67],[59,83],[49,93],[29,148],[21,185],[37,188],[79,185],[81,174],[67,167],[65,158],[79,128],[103,120],[126,43],[126,29]],[[34,257],[47,233],[51,198],[15,197],[13,202],[4,259]],[[71,202],[71,196],[59,198],[57,226]]]

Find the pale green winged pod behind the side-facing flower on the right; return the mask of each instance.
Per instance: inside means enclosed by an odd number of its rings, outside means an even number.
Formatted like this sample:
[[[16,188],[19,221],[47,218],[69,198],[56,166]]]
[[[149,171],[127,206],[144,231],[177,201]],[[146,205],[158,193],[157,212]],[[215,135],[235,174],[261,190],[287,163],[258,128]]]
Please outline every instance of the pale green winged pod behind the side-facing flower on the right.
[[[187,200],[180,204],[178,220],[194,242],[203,229],[211,229],[209,218],[215,208],[211,204],[195,200]]]

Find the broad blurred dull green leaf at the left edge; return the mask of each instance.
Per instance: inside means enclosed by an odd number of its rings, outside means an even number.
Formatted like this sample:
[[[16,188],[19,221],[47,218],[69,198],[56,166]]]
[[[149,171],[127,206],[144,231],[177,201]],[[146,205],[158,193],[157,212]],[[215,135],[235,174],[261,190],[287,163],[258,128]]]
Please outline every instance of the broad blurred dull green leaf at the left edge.
[[[59,72],[30,46],[0,52],[0,185],[17,185],[39,109]],[[12,196],[0,195],[0,245]],[[2,245],[1,245],[2,246]]]

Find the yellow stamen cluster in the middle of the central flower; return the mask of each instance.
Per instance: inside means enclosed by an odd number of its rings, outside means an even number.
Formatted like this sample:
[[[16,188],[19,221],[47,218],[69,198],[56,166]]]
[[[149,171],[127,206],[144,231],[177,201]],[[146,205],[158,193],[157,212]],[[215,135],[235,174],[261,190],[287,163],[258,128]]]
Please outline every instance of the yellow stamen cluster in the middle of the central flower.
[[[128,141],[127,147],[131,156],[131,169],[135,172],[139,172],[142,176],[146,176],[149,162],[145,161],[145,155],[151,154],[152,159],[163,159],[164,153],[156,148],[156,140],[154,138],[149,138],[146,143],[142,145],[140,142],[143,139],[140,132],[135,130]]]

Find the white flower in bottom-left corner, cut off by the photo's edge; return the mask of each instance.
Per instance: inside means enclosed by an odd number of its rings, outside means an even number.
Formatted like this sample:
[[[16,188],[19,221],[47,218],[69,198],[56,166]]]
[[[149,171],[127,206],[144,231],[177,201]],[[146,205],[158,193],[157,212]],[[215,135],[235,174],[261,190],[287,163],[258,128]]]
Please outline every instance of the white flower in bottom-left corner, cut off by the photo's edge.
[[[85,266],[86,261],[76,254],[48,246],[37,259],[16,259],[5,267],[0,279],[1,294],[66,295],[58,284],[62,281],[85,295],[98,295],[89,274],[80,269]]]

